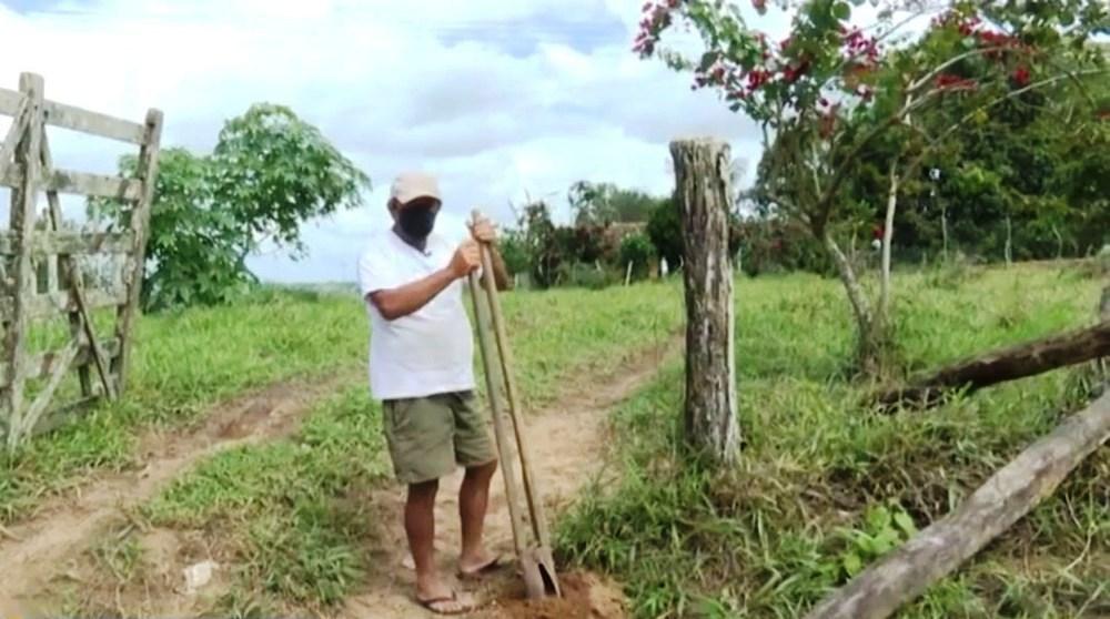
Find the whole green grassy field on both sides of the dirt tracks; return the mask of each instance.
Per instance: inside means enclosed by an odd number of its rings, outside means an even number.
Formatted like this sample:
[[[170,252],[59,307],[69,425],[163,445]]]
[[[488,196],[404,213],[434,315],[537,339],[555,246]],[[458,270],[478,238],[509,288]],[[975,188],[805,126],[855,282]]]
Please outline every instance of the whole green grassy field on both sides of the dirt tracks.
[[[1087,396],[1079,373],[996,387],[921,415],[860,406],[839,285],[811,275],[737,281],[744,454],[709,474],[678,447],[680,361],[613,413],[623,479],[584,493],[557,527],[563,560],[624,584],[639,617],[797,617],[961,497]],[[1053,266],[942,270],[897,280],[906,372],[1090,322],[1101,283]],[[528,407],[666,342],[677,282],[505,297]],[[160,558],[142,531],[204,539],[234,566],[221,616],[327,612],[369,565],[389,475],[367,398],[366,318],[350,294],[266,292],[234,307],[143,318],[133,388],[0,468],[3,521],[101,471],[141,464],[139,437],[203,422],[213,404],[270,384],[340,376],[292,436],[200,463],[90,548],[95,582],[59,591],[71,613],[144,615]],[[191,536],[191,537],[190,537]],[[80,550],[80,549],[78,549]],[[902,617],[1110,612],[1110,454],[1061,488]],[[107,591],[107,593],[105,593]],[[131,606],[128,606],[131,605]],[[1101,606],[1100,606],[1101,605]]]

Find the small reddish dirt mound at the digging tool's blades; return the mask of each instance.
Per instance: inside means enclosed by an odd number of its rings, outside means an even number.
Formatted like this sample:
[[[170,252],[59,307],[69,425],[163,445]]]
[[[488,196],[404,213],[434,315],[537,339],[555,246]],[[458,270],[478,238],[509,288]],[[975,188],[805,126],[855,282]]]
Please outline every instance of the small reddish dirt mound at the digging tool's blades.
[[[618,587],[588,572],[559,575],[563,597],[542,600],[501,599],[488,616],[497,619],[624,619],[624,593]]]

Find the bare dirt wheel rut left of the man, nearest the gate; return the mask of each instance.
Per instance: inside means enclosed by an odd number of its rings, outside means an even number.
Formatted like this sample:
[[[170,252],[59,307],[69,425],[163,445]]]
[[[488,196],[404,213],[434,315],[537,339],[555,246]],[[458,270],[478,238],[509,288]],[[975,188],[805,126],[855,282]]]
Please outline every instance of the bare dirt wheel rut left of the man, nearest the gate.
[[[31,520],[7,529],[0,538],[0,609],[4,600],[30,600],[52,577],[64,574],[113,517],[150,499],[198,461],[293,433],[315,399],[350,379],[339,375],[316,384],[279,383],[218,405],[184,436],[179,430],[142,437],[141,470],[84,484],[47,501]]]

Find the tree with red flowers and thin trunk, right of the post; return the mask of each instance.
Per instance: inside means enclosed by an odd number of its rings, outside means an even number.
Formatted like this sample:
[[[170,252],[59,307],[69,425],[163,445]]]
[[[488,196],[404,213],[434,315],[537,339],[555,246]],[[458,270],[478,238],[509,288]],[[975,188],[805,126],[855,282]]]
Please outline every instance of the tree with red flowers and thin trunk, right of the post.
[[[759,14],[768,10],[763,0],[751,4]],[[716,90],[733,111],[761,126],[757,191],[825,246],[845,285],[857,322],[858,361],[867,372],[881,368],[890,337],[889,256],[900,182],[985,110],[1107,74],[1101,54],[1087,44],[1108,27],[1101,0],[886,1],[877,22],[866,28],[852,24],[848,2],[806,0],[795,7],[790,33],[779,41],[723,0],[653,0],[643,12],[634,45],[640,57],[693,73],[692,88]],[[907,24],[929,17],[924,34],[906,33]],[[668,45],[665,35],[675,30],[696,32],[700,52]],[[915,122],[940,106],[965,113],[932,133]],[[878,303],[865,294],[837,240],[848,209],[846,182],[861,158],[877,151],[886,153],[889,185]]]

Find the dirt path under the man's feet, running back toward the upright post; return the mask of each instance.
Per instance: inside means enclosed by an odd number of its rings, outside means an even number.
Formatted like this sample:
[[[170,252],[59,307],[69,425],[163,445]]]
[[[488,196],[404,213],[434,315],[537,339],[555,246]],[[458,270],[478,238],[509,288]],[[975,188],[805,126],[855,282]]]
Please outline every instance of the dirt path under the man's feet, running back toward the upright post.
[[[680,348],[680,343],[676,345],[676,342],[679,341],[644,352],[607,375],[575,382],[574,392],[567,393],[555,405],[525,416],[533,466],[543,483],[541,490],[549,518],[557,517],[595,476],[604,474],[607,445],[610,443],[609,412],[655,376],[665,355]],[[461,470],[444,479],[436,505],[436,556],[445,575],[455,571],[460,539],[457,488],[461,481]],[[512,530],[504,490],[498,473],[491,493],[486,539],[491,550],[512,559]],[[403,490],[397,487],[385,488],[375,495],[381,542],[371,560],[374,571],[364,590],[347,600],[339,613],[340,619],[438,617],[423,611],[412,601],[414,572],[401,527],[403,497]],[[592,575],[561,574],[559,577],[565,599],[539,605],[522,599],[523,584],[512,568],[492,576],[478,586],[478,590],[472,584],[455,585],[475,591],[488,601],[483,610],[474,615],[476,617],[624,617],[619,589]]]

